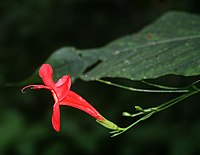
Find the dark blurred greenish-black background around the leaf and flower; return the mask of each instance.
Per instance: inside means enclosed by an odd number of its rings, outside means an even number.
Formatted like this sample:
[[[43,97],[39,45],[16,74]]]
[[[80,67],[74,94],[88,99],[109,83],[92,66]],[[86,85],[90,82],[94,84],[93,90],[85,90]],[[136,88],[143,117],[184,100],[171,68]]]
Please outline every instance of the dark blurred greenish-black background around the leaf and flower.
[[[29,77],[60,47],[101,47],[138,32],[170,10],[200,14],[200,1],[1,0],[0,154],[199,154],[198,95],[110,138],[108,130],[93,118],[70,107],[61,107],[61,132],[56,133],[51,126],[53,99],[50,92],[22,94],[23,86],[5,87]],[[157,80],[183,86],[194,79],[167,76]],[[175,97],[132,93],[80,80],[72,89],[121,126],[133,122],[121,117],[123,111],[134,112],[135,105],[150,107]]]

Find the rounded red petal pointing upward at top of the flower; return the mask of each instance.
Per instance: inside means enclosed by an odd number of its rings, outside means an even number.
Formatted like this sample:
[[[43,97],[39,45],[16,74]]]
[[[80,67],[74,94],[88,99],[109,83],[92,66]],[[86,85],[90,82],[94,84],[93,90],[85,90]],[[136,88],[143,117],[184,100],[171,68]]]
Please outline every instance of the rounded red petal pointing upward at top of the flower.
[[[43,82],[44,82],[44,84],[46,86],[49,86],[52,89],[54,89],[55,83],[54,83],[54,81],[52,79],[53,69],[52,69],[52,67],[49,64],[43,64],[40,67],[39,75],[42,78],[42,80],[43,80]]]

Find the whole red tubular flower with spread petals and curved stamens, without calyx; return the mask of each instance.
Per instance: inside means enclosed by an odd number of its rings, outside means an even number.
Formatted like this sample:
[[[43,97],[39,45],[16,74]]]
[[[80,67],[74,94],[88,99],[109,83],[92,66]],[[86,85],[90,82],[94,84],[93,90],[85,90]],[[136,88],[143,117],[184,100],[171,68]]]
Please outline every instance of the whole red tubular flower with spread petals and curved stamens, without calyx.
[[[44,88],[51,91],[55,101],[53,105],[52,125],[57,132],[60,131],[60,105],[67,105],[78,108],[90,114],[98,121],[104,120],[100,113],[86,100],[84,100],[80,95],[76,94],[75,92],[69,90],[71,87],[70,75],[63,76],[58,80],[58,82],[54,83],[52,79],[53,69],[49,64],[43,64],[41,66],[39,70],[39,75],[45,85],[28,85],[22,89],[22,92],[24,92],[24,90],[29,87],[35,90]]]

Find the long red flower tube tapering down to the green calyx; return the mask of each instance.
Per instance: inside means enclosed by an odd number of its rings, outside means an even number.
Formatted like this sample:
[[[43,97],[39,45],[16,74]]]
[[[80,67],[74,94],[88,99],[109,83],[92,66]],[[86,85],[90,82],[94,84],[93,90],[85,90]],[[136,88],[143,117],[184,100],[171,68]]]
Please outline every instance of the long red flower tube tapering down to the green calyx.
[[[69,90],[65,99],[63,101],[61,101],[59,104],[60,105],[68,105],[68,106],[80,109],[98,120],[104,119],[101,116],[101,114],[93,106],[91,106],[80,95],[76,94],[75,92],[73,92],[71,90]]]

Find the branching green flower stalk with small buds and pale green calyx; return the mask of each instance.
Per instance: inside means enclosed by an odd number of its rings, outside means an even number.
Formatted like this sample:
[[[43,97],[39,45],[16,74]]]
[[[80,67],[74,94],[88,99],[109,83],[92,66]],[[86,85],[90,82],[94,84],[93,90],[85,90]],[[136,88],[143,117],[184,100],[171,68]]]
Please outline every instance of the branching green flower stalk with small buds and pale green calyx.
[[[138,119],[137,121],[135,121],[134,123],[132,123],[131,125],[125,127],[125,128],[120,128],[118,127],[116,124],[114,124],[113,122],[104,119],[104,120],[97,120],[98,123],[100,123],[101,125],[103,125],[104,127],[111,129],[113,131],[111,131],[110,133],[112,134],[111,137],[115,137],[118,136],[122,133],[124,133],[125,131],[129,130],[130,128],[132,128],[133,126],[135,126],[136,124],[138,124],[141,121],[146,120],[147,118],[151,117],[153,114],[163,111],[173,105],[175,105],[178,102],[181,102],[182,100],[197,94],[200,92],[200,89],[195,86],[195,84],[199,83],[200,80],[192,83],[191,85],[185,87],[185,88],[174,88],[174,87],[166,87],[166,86],[160,86],[160,85],[156,85],[156,84],[151,84],[151,83],[146,83],[148,85],[160,88],[161,90],[147,90],[147,89],[137,89],[137,88],[133,88],[133,87],[127,87],[127,86],[123,86],[120,84],[116,84],[116,83],[112,83],[110,81],[105,81],[105,80],[100,80],[98,79],[97,81],[105,83],[105,84],[109,84],[112,86],[116,86],[122,89],[126,89],[126,90],[130,90],[130,91],[137,91],[137,92],[146,92],[146,93],[185,93],[181,96],[176,97],[175,99],[172,99],[168,102],[165,102],[159,106],[156,107],[152,107],[152,108],[147,108],[147,109],[143,109],[140,106],[135,106],[135,109],[137,111],[139,111],[136,114],[130,114],[128,112],[123,112],[123,116],[126,117],[136,117],[136,116],[140,116],[140,115],[144,115],[143,117],[141,117],[140,119]]]

